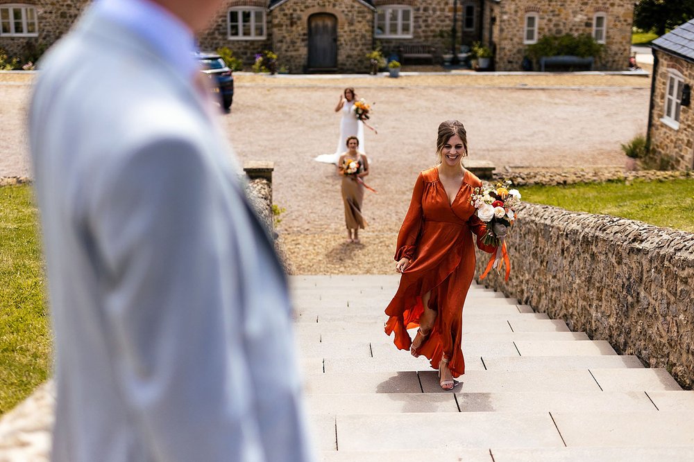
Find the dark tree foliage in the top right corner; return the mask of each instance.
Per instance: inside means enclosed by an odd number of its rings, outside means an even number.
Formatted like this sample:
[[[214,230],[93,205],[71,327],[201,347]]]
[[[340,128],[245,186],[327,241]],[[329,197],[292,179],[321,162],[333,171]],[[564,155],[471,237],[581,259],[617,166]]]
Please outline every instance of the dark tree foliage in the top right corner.
[[[694,18],[694,0],[639,0],[634,8],[634,26],[663,35]]]

